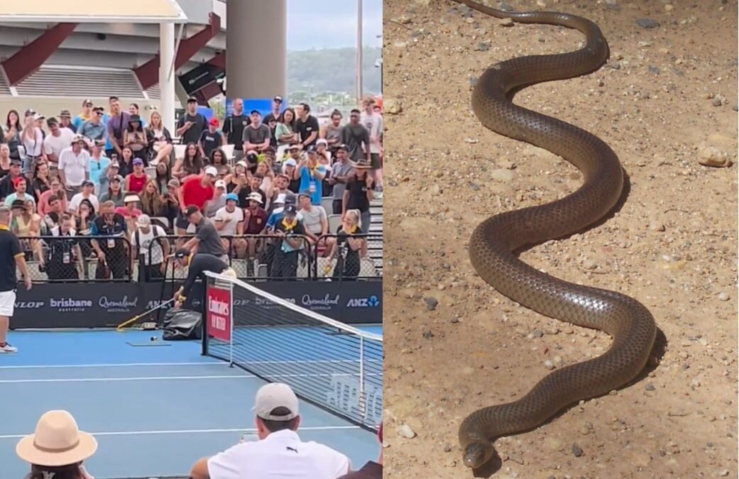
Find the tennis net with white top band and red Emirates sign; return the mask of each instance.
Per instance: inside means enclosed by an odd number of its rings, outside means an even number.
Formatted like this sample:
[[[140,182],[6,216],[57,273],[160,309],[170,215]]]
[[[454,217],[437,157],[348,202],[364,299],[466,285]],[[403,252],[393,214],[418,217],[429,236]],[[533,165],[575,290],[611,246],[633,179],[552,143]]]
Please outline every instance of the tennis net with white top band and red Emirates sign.
[[[206,273],[203,353],[367,429],[382,416],[382,336]]]

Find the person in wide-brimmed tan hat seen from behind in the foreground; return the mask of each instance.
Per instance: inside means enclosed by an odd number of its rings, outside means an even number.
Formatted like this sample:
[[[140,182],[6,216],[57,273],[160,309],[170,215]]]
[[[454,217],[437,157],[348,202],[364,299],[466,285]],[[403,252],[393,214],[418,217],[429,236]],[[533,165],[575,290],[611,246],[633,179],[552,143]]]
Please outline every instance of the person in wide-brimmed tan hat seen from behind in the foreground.
[[[98,449],[98,441],[77,427],[67,411],[41,415],[35,433],[18,441],[16,454],[31,464],[26,479],[93,479],[82,461]]]

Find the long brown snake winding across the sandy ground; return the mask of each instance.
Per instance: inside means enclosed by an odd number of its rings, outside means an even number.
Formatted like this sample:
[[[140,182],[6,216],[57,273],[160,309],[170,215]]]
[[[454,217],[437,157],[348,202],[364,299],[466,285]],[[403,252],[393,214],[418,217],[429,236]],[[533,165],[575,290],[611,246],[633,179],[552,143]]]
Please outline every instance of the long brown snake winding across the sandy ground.
[[[481,222],[472,233],[469,256],[477,274],[505,296],[545,316],[602,330],[613,338],[610,350],[602,356],[554,370],[517,401],[485,407],[467,416],[459,430],[463,459],[466,466],[479,467],[494,454],[495,438],[537,427],[564,407],[608,393],[635,378],[649,359],[656,325],[649,310],[635,299],[556,279],[514,254],[522,247],[592,225],[621,195],[621,163],[605,142],[511,101],[525,86],[599,69],[608,56],[599,27],[565,13],[514,13],[469,0],[454,1],[497,18],[559,25],[585,34],[585,47],[580,50],[512,58],[489,67],[477,81],[472,109],[483,125],[563,157],[582,171],[584,182],[562,200],[507,211]]]

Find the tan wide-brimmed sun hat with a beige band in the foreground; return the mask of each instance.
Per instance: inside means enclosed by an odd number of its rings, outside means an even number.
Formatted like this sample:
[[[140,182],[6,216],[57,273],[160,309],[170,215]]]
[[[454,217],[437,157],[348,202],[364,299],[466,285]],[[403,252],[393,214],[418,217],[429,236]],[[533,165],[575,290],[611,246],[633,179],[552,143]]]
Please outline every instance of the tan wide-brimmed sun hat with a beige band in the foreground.
[[[38,466],[66,466],[89,458],[98,449],[98,441],[77,427],[75,418],[64,410],[44,412],[35,432],[16,444],[16,454]]]

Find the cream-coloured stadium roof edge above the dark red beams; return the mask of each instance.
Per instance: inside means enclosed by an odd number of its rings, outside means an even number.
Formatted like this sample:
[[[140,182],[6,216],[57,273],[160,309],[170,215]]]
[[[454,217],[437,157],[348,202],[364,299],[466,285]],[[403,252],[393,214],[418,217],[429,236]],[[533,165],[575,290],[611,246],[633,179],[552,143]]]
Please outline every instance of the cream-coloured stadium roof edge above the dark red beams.
[[[1,1],[0,23],[185,23],[187,16],[176,0],[23,0]]]

